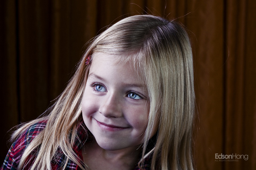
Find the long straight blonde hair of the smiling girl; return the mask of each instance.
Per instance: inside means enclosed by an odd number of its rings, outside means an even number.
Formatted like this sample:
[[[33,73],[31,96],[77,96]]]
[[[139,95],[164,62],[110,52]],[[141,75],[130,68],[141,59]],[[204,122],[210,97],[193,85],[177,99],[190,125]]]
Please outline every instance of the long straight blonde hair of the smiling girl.
[[[22,169],[32,150],[40,146],[31,170],[50,170],[58,148],[66,155],[66,164],[72,160],[84,170],[72,146],[79,122],[83,121],[81,100],[89,70],[85,60],[95,52],[120,55],[144,77],[150,113],[138,165],[143,168],[145,158],[150,157],[152,170],[193,170],[194,80],[190,40],[181,24],[152,15],[127,17],[93,40],[66,89],[48,110],[49,115],[26,123],[13,134],[13,139],[17,138],[32,124],[47,120],[44,130],[26,148],[18,167]],[[150,141],[154,124],[158,125],[158,132],[155,140]]]

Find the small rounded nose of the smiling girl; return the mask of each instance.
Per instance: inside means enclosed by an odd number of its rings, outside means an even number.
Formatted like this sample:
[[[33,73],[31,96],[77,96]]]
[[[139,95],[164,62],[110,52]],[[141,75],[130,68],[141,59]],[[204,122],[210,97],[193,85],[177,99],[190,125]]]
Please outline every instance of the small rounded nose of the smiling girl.
[[[118,118],[122,116],[121,101],[115,94],[108,94],[104,97],[99,112],[107,118]]]

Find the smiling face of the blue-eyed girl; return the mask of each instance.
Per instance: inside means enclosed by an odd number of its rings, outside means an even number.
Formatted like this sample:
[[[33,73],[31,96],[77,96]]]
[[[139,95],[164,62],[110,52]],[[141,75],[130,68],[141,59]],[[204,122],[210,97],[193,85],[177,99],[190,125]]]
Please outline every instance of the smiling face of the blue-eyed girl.
[[[143,79],[129,63],[118,64],[119,57],[93,54],[82,100],[84,123],[106,150],[137,149],[148,122]]]

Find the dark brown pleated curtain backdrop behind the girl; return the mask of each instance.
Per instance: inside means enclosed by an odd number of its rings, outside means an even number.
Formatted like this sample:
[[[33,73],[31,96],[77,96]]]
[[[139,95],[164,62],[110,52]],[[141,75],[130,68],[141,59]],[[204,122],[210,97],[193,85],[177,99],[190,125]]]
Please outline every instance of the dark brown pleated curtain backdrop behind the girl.
[[[84,44],[135,14],[179,17],[194,52],[198,170],[256,169],[255,0],[1,0],[0,160],[9,129],[62,92]],[[103,29],[102,29],[103,28]],[[216,161],[215,154],[248,160]]]

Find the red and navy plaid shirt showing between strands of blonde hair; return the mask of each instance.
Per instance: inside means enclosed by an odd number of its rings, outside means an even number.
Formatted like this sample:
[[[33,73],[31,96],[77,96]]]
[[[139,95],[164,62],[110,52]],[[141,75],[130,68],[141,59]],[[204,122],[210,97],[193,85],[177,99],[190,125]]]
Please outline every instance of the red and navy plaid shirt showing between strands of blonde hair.
[[[42,130],[44,130],[44,127],[46,126],[46,121],[41,121],[38,123],[35,123],[31,127],[29,127],[26,132],[24,132],[11,146],[9,149],[9,152],[4,160],[4,164],[1,167],[0,170],[17,170],[19,161],[22,157],[22,153],[26,149],[26,147],[31,143],[31,141],[37,136]],[[83,160],[82,156],[82,143],[85,142],[86,136],[84,135],[86,133],[83,132],[82,128],[78,130],[77,136],[79,140],[76,140],[75,146],[73,147],[73,150],[77,154],[77,156]],[[80,142],[82,141],[82,142]],[[34,160],[35,155],[34,153],[31,153],[29,159]],[[62,153],[61,149],[57,150],[58,157],[54,157],[52,160],[52,170],[61,170],[63,169],[63,164],[65,163],[65,155]],[[145,170],[150,170],[150,166],[145,165]],[[29,170],[31,168],[31,164],[27,164],[23,170]],[[81,168],[75,164],[75,162],[69,160],[65,170],[81,170]],[[140,168],[136,167],[134,170],[140,170]]]

